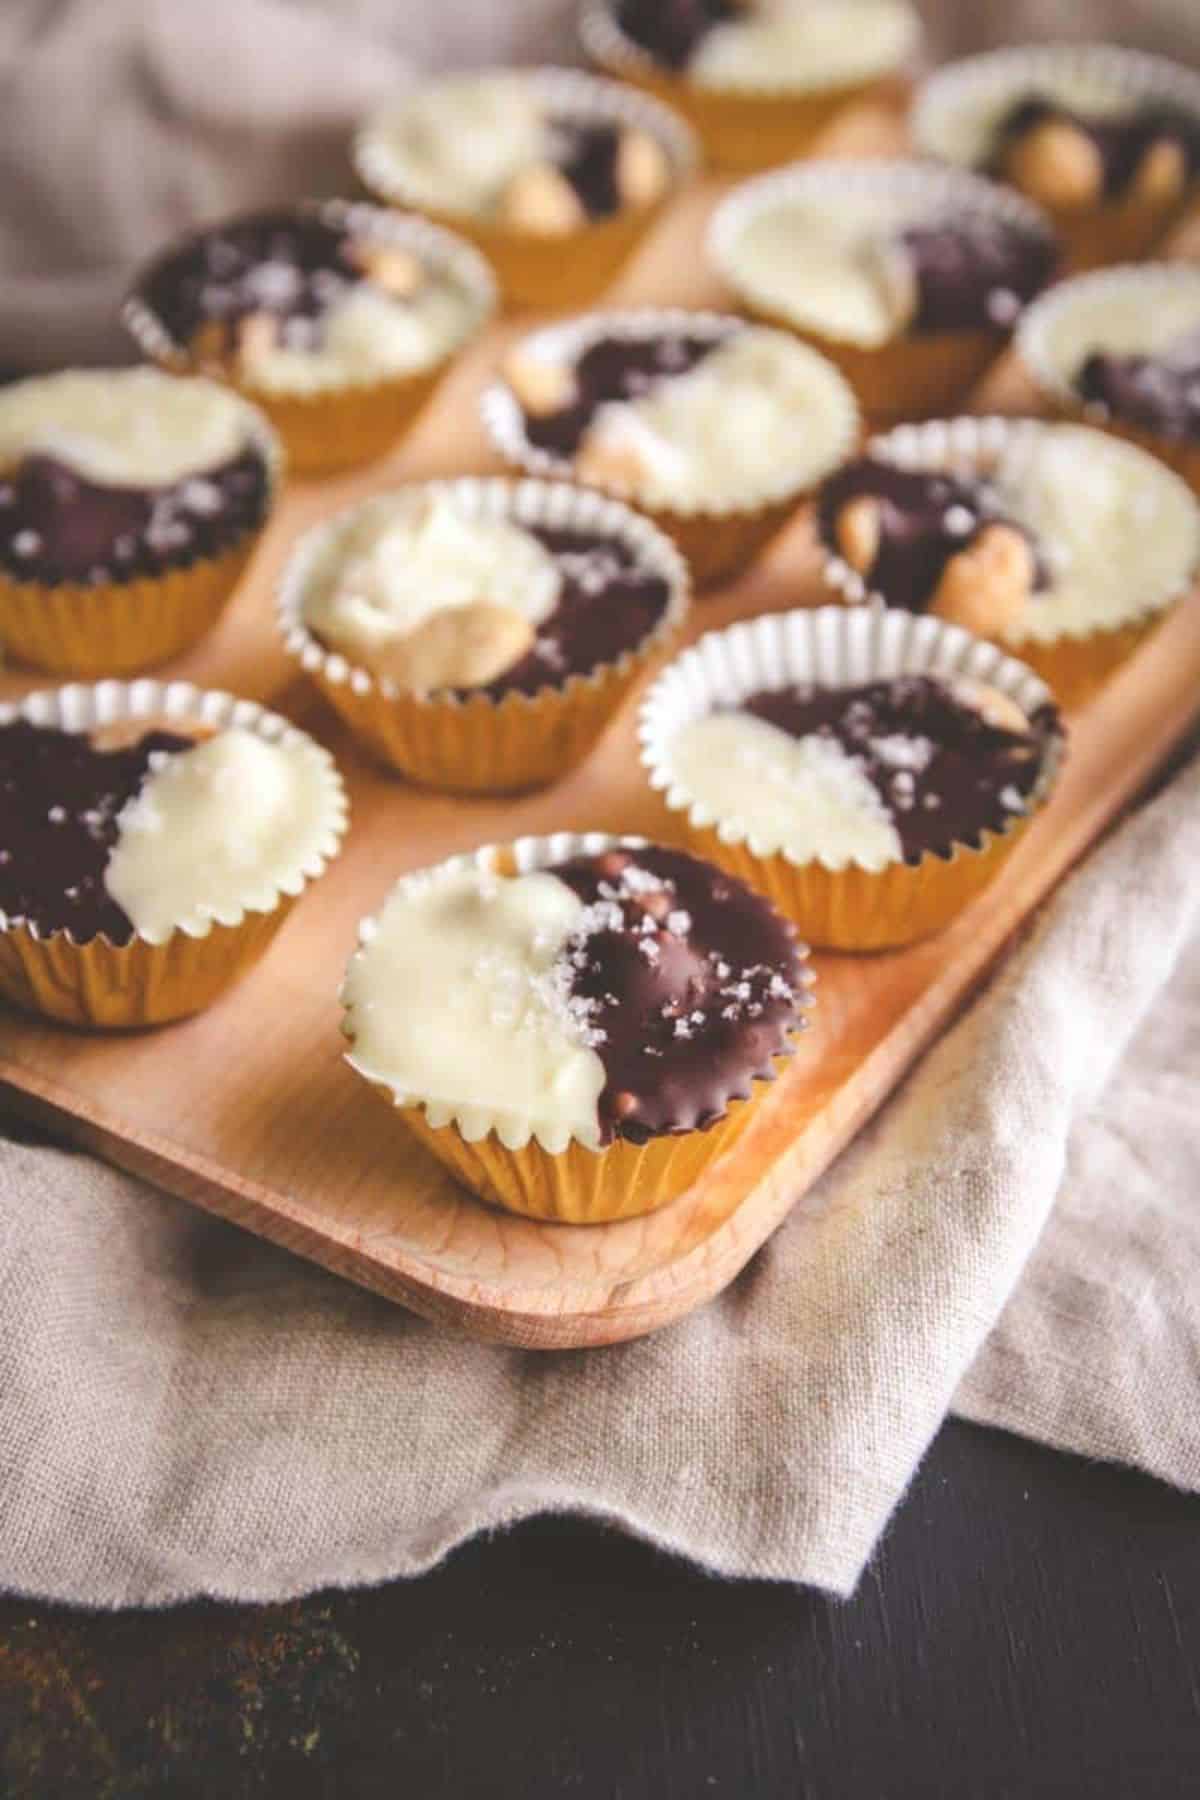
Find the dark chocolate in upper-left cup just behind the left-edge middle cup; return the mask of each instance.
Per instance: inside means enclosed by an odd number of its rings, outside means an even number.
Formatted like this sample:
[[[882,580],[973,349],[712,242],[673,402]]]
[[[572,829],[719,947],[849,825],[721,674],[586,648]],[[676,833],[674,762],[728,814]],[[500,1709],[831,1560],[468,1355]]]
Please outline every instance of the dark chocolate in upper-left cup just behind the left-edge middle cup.
[[[248,313],[284,320],[284,342],[320,342],[320,319],[365,279],[354,238],[317,212],[277,211],[232,220],[167,252],[139,293],[176,344],[201,326],[232,328]]]

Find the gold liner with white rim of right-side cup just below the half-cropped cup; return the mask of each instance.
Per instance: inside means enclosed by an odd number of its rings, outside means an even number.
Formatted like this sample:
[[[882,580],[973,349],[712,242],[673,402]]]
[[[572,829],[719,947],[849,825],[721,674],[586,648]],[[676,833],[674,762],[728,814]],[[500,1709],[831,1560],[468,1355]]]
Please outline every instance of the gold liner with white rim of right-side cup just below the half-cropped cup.
[[[1033,450],[1038,437],[1054,428],[1043,419],[975,416],[930,419],[925,425],[901,425],[882,437],[873,437],[867,454],[885,463],[898,463],[901,468],[939,468],[955,475],[986,475],[1007,450],[1022,446]],[[1087,455],[1088,448],[1092,454],[1112,455],[1112,445],[1103,434],[1078,425],[1072,430],[1081,439],[1081,457]],[[1153,477],[1177,488],[1159,459],[1153,459]],[[1178,488],[1177,495],[1180,500],[1187,500]],[[1187,513],[1191,531],[1187,542],[1180,544],[1177,572],[1159,585],[1142,587],[1137,603],[1124,619],[1090,630],[1063,626],[1056,635],[997,639],[1007,655],[1020,657],[1034,675],[1040,675],[1063,711],[1074,713],[1085,706],[1146,643],[1168,610],[1191,590],[1200,569],[1200,509],[1187,504],[1182,511]],[[835,551],[826,551],[822,574],[826,587],[846,605],[885,605],[883,596],[871,592],[858,571],[851,569]],[[1144,583],[1141,565],[1130,571],[1130,583],[1139,580]]]

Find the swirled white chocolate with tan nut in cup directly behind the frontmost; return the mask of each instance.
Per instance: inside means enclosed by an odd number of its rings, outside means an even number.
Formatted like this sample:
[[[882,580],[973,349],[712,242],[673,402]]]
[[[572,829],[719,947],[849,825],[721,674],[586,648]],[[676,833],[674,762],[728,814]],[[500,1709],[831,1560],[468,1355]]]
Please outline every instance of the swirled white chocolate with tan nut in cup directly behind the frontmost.
[[[531,531],[421,495],[351,515],[313,571],[304,621],[351,662],[378,668],[437,612],[482,603],[540,625],[560,592],[560,567]]]

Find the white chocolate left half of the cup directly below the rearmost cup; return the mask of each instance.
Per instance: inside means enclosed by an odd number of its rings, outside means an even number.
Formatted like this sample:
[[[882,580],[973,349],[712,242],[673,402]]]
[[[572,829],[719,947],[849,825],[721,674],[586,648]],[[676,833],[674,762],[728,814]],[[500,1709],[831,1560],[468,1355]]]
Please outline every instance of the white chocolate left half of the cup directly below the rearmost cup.
[[[874,347],[907,322],[883,243],[914,218],[882,193],[763,207],[738,238],[738,266],[756,302],[781,319]]]

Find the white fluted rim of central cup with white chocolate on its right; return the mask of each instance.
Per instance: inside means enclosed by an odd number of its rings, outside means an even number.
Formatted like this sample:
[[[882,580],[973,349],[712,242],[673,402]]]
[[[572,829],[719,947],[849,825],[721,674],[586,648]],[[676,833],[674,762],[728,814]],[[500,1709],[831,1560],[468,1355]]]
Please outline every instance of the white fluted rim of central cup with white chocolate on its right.
[[[666,333],[705,337],[720,342],[734,331],[772,331],[770,326],[747,326],[743,319],[730,313],[685,311],[682,308],[631,308],[622,311],[594,311],[560,324],[543,326],[520,340],[522,351],[531,356],[543,356],[549,362],[574,364],[599,338],[622,338],[639,342],[640,338]],[[790,333],[774,331],[786,340],[788,347],[804,355],[811,362],[813,376],[829,385],[829,394],[837,396],[837,423],[829,436],[829,445],[820,457],[806,466],[781,468],[774,482],[759,491],[727,495],[723,499],[698,499],[691,502],[671,500],[669,504],[644,499],[639,490],[628,484],[606,484],[604,493],[612,493],[630,506],[640,506],[651,513],[671,515],[682,520],[721,520],[736,513],[768,508],[795,497],[797,500],[824,479],[849,454],[858,439],[860,418],[858,403],[849,383],[838,374],[833,364],[819,351],[797,344]],[[574,473],[572,457],[554,455],[529,441],[522,405],[500,376],[482,394],[480,412],[488,436],[497,452],[509,463],[529,470],[534,475],[549,475],[570,481]]]

